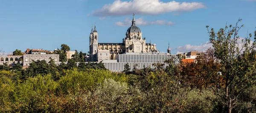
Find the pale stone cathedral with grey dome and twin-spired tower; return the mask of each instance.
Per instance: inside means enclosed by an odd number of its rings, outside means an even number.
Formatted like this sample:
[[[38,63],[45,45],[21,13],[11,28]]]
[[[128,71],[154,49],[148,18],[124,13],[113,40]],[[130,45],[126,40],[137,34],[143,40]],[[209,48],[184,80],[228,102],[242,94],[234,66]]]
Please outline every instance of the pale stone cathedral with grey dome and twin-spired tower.
[[[102,60],[117,59],[118,54],[124,53],[159,53],[155,44],[146,43],[146,38],[142,37],[142,31],[136,25],[134,19],[131,21],[131,27],[128,28],[122,43],[99,43],[96,25],[92,27],[90,33],[90,62],[100,62]],[[170,54],[170,50],[168,51]]]

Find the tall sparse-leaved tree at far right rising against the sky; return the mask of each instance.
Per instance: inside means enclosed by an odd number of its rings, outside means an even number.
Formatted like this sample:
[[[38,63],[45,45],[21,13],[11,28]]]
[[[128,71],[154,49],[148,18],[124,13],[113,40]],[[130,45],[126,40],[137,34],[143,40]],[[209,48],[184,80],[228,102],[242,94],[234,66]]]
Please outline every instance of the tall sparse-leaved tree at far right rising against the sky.
[[[221,77],[225,80],[224,88],[221,88],[218,94],[221,100],[228,107],[228,112],[237,104],[240,94],[255,84],[256,81],[256,31],[254,31],[254,40],[251,42],[252,34],[247,38],[240,38],[238,33],[241,27],[230,25],[220,28],[215,32],[213,28],[209,30],[209,40],[214,48],[214,55],[223,65]],[[239,43],[241,42],[241,43]]]

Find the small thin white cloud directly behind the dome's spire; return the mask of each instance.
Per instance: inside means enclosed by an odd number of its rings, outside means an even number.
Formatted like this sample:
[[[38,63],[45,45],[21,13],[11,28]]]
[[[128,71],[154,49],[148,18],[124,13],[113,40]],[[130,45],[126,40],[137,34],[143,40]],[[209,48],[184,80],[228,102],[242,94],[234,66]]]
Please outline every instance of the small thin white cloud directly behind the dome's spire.
[[[130,26],[131,20],[127,17],[122,22],[116,22],[115,23],[118,26]],[[143,17],[140,17],[136,19],[136,25],[152,25],[152,24],[158,24],[158,25],[174,25],[175,23],[172,23],[172,21],[166,22],[166,20],[156,20],[156,21],[145,21]]]

